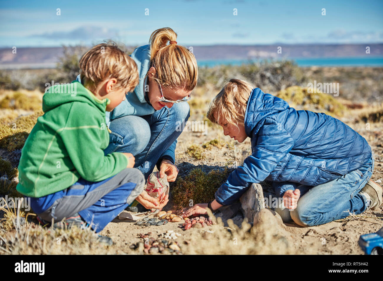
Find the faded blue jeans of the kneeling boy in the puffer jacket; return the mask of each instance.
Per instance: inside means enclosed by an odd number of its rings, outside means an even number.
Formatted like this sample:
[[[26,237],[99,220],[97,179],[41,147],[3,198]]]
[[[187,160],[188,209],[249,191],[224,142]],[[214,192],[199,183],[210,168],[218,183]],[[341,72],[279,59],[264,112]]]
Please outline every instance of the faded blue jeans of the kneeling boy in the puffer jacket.
[[[291,209],[279,206],[274,211],[281,215],[284,222],[294,221],[300,226],[316,226],[345,218],[350,213],[363,213],[367,209],[367,202],[358,192],[370,180],[373,169],[372,159],[371,164],[315,187],[289,182],[275,183],[286,185],[286,189],[296,187],[301,196],[296,209],[290,211]]]

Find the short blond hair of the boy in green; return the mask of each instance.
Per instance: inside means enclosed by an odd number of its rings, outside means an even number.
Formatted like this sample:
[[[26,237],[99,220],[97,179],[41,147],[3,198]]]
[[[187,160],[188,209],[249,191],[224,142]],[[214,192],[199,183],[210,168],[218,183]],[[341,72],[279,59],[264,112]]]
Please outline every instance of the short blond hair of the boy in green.
[[[113,41],[95,45],[79,61],[82,84],[94,92],[100,82],[116,78],[118,89],[132,92],[138,84],[136,62]]]

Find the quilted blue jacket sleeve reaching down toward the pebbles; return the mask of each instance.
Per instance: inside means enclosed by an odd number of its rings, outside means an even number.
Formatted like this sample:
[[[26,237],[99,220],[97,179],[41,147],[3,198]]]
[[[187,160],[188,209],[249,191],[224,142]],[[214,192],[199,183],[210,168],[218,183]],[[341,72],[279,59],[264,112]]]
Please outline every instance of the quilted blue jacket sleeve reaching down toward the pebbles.
[[[255,136],[253,136],[255,137]],[[265,118],[257,134],[253,153],[237,167],[215,194],[221,205],[231,205],[252,183],[259,183],[273,171],[278,162],[293,148],[294,140],[281,123]]]

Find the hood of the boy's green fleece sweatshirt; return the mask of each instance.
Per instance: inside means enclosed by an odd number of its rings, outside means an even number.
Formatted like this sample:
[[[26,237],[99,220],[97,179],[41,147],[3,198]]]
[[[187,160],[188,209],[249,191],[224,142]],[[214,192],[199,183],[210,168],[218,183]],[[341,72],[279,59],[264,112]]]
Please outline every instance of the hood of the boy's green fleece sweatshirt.
[[[43,96],[43,111],[47,112],[57,106],[74,101],[92,104],[101,112],[105,112],[106,105],[110,103],[109,99],[98,99],[91,91],[75,80],[72,83],[49,87]]]

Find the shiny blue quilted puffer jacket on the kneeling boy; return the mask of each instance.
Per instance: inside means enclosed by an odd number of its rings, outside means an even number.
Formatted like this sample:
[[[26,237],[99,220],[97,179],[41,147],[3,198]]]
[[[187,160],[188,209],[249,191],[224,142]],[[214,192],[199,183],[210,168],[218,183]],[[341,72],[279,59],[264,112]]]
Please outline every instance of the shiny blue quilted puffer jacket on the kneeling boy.
[[[245,131],[252,155],[216,192],[222,205],[234,203],[251,183],[266,179],[316,186],[372,162],[365,138],[345,123],[324,113],[290,108],[259,88],[247,102]]]

